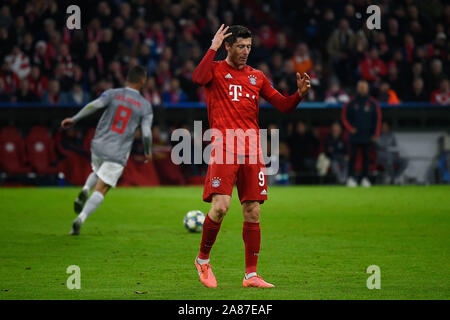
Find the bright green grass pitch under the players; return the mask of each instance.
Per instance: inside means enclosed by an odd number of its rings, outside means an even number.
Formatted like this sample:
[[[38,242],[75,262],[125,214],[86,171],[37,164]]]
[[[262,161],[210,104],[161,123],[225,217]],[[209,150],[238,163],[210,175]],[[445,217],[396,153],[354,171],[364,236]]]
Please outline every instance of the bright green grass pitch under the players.
[[[242,288],[236,190],[207,289],[194,267],[207,213],[199,187],[119,188],[69,236],[78,189],[0,189],[0,299],[449,299],[450,188],[271,187],[262,206],[258,271],[273,289]],[[81,290],[66,268],[81,268]],[[369,290],[366,268],[381,268]],[[145,294],[137,294],[136,291]]]

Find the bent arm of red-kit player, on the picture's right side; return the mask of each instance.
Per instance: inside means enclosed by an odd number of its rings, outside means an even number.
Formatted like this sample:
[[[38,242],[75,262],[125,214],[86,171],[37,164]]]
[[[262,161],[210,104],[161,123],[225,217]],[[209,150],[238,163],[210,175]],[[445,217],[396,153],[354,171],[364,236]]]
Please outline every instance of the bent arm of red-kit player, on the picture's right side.
[[[306,96],[308,90],[311,88],[310,77],[307,73],[304,73],[303,76],[301,76],[300,73],[297,72],[297,87],[297,92],[286,97],[273,88],[269,80],[264,77],[264,84],[261,88],[261,96],[281,112],[289,113],[297,108],[297,105]]]

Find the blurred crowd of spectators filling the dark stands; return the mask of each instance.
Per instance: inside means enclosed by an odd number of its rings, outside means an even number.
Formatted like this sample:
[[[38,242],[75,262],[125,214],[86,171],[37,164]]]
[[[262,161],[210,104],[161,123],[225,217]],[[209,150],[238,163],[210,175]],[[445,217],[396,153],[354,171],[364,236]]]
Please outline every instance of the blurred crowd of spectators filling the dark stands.
[[[84,104],[122,86],[136,64],[147,67],[143,94],[154,105],[204,101],[191,75],[225,23],[251,29],[248,63],[282,93],[307,72],[308,101],[347,102],[364,79],[381,102],[450,103],[444,0],[91,0],[80,4],[81,30],[69,30],[71,2],[1,6],[0,101]],[[369,2],[381,9],[380,30],[367,29]]]

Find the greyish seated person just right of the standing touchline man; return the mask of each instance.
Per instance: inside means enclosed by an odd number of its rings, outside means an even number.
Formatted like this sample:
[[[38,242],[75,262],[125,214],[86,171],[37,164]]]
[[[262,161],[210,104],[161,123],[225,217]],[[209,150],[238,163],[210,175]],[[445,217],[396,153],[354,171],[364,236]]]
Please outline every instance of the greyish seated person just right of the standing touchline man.
[[[384,183],[400,184],[401,176],[408,161],[399,156],[397,141],[390,131],[389,124],[383,122],[381,134],[376,141],[377,163],[385,170]]]

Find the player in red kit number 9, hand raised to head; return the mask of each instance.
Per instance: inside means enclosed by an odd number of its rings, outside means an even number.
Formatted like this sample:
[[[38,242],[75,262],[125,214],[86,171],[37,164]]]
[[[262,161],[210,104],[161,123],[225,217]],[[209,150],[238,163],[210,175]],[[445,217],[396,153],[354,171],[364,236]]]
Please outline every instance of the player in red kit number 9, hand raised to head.
[[[227,32],[228,31],[228,32]],[[217,50],[225,42],[227,58],[213,61]],[[212,145],[221,143],[224,154],[235,153],[248,158],[260,153],[259,146],[259,97],[264,98],[278,110],[288,113],[297,107],[310,88],[310,78],[305,73],[297,73],[298,90],[291,96],[283,96],[275,90],[264,74],[248,66],[247,58],[252,46],[252,34],[243,26],[224,27],[215,34],[211,47],[197,66],[192,80],[204,87],[211,129],[222,134],[221,139],[212,138]],[[254,130],[255,145],[239,144],[230,149],[225,138],[228,130]],[[233,138],[234,139],[234,138]],[[220,141],[219,141],[220,140]],[[227,141],[224,145],[223,142]],[[239,137],[238,137],[239,140]],[[214,158],[214,151],[211,158]],[[234,156],[233,156],[234,157]],[[195,258],[195,266],[200,281],[206,287],[217,287],[217,281],[209,263],[209,253],[216,240],[222,220],[228,211],[234,183],[244,215],[242,237],[245,244],[244,287],[273,287],[257,273],[261,232],[259,227],[260,204],[267,200],[265,165],[257,163],[228,163],[211,161],[205,180],[203,200],[211,202],[203,225],[200,252]]]

